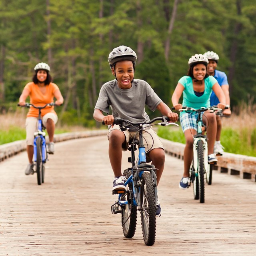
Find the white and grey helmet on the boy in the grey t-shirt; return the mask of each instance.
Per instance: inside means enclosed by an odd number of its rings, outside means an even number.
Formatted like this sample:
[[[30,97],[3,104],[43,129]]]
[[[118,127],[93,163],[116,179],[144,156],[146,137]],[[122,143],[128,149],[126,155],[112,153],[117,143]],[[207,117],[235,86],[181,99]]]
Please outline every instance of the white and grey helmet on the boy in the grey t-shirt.
[[[119,47],[114,48],[108,56],[108,63],[110,68],[114,63],[121,60],[131,60],[135,66],[137,55],[130,47],[120,45]]]

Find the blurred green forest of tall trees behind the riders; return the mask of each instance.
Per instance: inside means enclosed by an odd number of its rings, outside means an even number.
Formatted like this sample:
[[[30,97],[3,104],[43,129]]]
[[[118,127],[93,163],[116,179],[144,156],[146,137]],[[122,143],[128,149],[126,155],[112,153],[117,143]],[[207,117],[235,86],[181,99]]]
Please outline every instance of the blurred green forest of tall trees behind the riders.
[[[114,79],[108,54],[119,45],[135,50],[135,78],[170,107],[188,59],[208,50],[228,76],[232,112],[255,107],[255,0],[1,0],[0,113],[20,111],[34,66],[46,62],[64,96],[59,125],[95,126],[100,88]]]

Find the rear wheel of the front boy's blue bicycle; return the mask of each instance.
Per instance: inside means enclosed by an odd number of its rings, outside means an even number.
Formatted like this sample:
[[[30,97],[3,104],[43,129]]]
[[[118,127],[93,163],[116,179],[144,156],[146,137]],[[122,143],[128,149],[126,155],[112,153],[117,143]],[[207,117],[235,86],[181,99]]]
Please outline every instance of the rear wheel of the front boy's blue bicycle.
[[[124,170],[123,176],[127,179],[132,175],[132,171],[129,169]],[[128,204],[121,205],[122,211],[122,227],[124,236],[126,238],[132,238],[136,231],[137,223],[137,207],[133,204],[133,188],[132,183],[126,186],[127,193],[121,196],[121,200],[127,200]]]

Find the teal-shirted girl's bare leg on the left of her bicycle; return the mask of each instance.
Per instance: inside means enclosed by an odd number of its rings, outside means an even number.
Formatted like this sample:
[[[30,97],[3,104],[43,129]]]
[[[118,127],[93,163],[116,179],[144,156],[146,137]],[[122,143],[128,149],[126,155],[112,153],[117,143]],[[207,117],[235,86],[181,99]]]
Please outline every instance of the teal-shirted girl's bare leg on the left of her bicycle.
[[[189,177],[189,168],[193,160],[193,136],[196,134],[196,130],[188,129],[185,130],[184,135],[186,139],[186,145],[184,148],[184,173],[183,177]]]

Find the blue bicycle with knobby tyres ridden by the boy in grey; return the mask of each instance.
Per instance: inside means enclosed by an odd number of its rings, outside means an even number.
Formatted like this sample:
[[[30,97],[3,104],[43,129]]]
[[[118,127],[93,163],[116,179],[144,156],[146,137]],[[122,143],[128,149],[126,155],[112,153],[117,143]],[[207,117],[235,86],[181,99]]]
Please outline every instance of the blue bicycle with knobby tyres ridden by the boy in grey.
[[[118,200],[111,206],[112,213],[122,214],[122,228],[126,238],[132,238],[136,230],[137,210],[140,211],[142,234],[146,245],[151,246],[155,242],[156,237],[156,203],[157,203],[157,183],[156,168],[152,164],[146,163],[146,152],[143,144],[142,131],[152,126],[153,122],[161,120],[158,123],[162,126],[178,124],[168,122],[167,117],[157,117],[149,122],[133,123],[129,120],[115,118],[114,124],[119,124],[122,131],[128,130],[128,126],[132,126],[139,136],[129,142],[128,150],[131,157],[128,162],[132,164],[131,168],[124,170],[123,176],[126,177],[126,191],[118,194]],[[138,137],[138,138],[136,138]],[[135,157],[135,150],[139,149],[138,158]],[[150,149],[149,149],[150,150]]]

